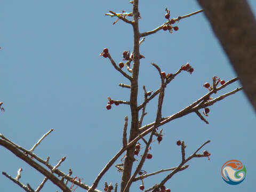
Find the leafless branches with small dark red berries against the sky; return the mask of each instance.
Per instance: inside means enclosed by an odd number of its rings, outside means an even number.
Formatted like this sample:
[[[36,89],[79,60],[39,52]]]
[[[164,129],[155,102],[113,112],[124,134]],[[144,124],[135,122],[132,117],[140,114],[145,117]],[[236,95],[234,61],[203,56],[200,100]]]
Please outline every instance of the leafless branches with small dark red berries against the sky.
[[[181,109],[177,113],[171,114],[170,116],[162,116],[162,106],[164,103],[164,95],[165,95],[165,89],[167,89],[167,86],[171,81],[175,80],[175,77],[179,75],[180,73],[190,73],[193,74],[193,66],[190,66],[189,63],[183,63],[184,65],[177,66],[177,71],[174,73],[168,73],[165,74],[161,70],[160,65],[157,65],[156,63],[151,63],[156,68],[156,74],[159,76],[159,89],[155,91],[147,91],[146,86],[143,86],[142,89],[144,91],[144,101],[142,103],[138,103],[138,76],[139,76],[139,68],[140,68],[140,59],[145,58],[144,55],[140,54],[140,45],[145,41],[145,37],[148,35],[153,35],[157,33],[159,30],[165,30],[166,33],[173,33],[174,31],[178,30],[177,23],[181,22],[183,19],[188,19],[188,17],[193,16],[197,13],[203,12],[203,10],[199,10],[187,15],[180,15],[177,18],[170,19],[170,11],[166,8],[166,14],[165,18],[167,19],[166,22],[163,23],[163,25],[156,27],[153,30],[140,32],[139,31],[139,21],[140,21],[140,12],[138,9],[139,0],[131,1],[133,4],[133,10],[132,12],[121,12],[116,13],[114,11],[109,11],[109,13],[106,13],[106,15],[116,18],[117,20],[114,22],[114,24],[118,20],[122,20],[127,23],[127,25],[130,25],[133,28],[133,36],[134,36],[134,42],[133,42],[133,50],[127,50],[123,52],[123,62],[120,62],[117,64],[113,58],[111,58],[111,51],[107,48],[103,49],[102,55],[104,58],[108,59],[113,67],[121,73],[124,78],[128,79],[130,84],[119,84],[121,87],[125,87],[126,89],[130,90],[130,100],[124,101],[124,100],[113,100],[111,98],[108,98],[108,105],[107,109],[111,108],[111,105],[129,105],[131,108],[131,119],[130,119],[130,133],[129,137],[127,137],[127,125],[128,125],[128,117],[125,116],[124,118],[124,129],[123,129],[123,143],[121,145],[121,148],[119,151],[117,151],[116,155],[111,158],[111,160],[106,164],[106,166],[102,169],[102,171],[98,174],[98,176],[95,178],[94,182],[92,184],[87,183],[86,181],[82,182],[80,177],[72,177],[72,170],[70,169],[68,173],[65,173],[63,171],[60,171],[58,167],[61,165],[63,161],[65,161],[66,157],[62,157],[58,164],[51,165],[49,163],[50,157],[47,157],[47,159],[42,159],[39,156],[37,156],[34,153],[35,148],[42,142],[42,140],[49,135],[53,130],[51,129],[49,132],[47,132],[41,139],[38,140],[37,143],[30,149],[25,149],[10,139],[4,137],[3,134],[0,134],[0,145],[5,147],[7,150],[11,151],[14,155],[18,156],[20,159],[28,163],[31,167],[34,167],[37,171],[42,173],[45,178],[43,179],[42,183],[38,186],[37,189],[31,188],[29,184],[25,185],[20,182],[21,177],[21,171],[22,169],[18,170],[17,177],[11,177],[6,172],[2,172],[7,178],[12,180],[13,182],[17,183],[21,188],[23,188],[26,191],[40,191],[44,183],[47,180],[51,180],[55,185],[57,185],[62,191],[74,191],[76,187],[83,188],[89,192],[95,191],[100,192],[100,190],[97,189],[99,181],[102,179],[102,176],[109,170],[109,168],[113,165],[117,168],[117,171],[122,172],[122,178],[120,183],[120,191],[122,192],[128,192],[132,182],[137,180],[142,180],[142,185],[140,186],[141,190],[145,191],[166,191],[170,192],[169,189],[165,189],[164,185],[167,180],[171,179],[172,176],[182,170],[185,170],[188,168],[188,161],[190,159],[195,157],[207,157],[211,155],[207,150],[204,150],[203,153],[199,153],[199,150],[201,150],[209,141],[205,141],[202,143],[201,146],[196,147],[193,154],[186,157],[186,145],[184,141],[177,141],[177,145],[181,148],[181,162],[179,165],[176,165],[174,167],[171,167],[169,169],[161,169],[162,167],[159,167],[159,171],[153,172],[153,173],[147,173],[143,171],[143,164],[145,163],[146,159],[149,159],[152,157],[152,155],[149,153],[150,145],[153,142],[153,138],[157,137],[158,142],[160,143],[163,137],[162,130],[160,130],[160,127],[166,123],[169,123],[170,121],[173,121],[174,119],[180,118],[182,116],[188,115],[190,113],[195,113],[202,121],[205,123],[208,123],[206,117],[209,113],[208,106],[214,105],[215,102],[218,102],[226,97],[228,97],[231,94],[234,94],[238,91],[241,91],[242,87],[237,87],[237,89],[227,92],[225,94],[220,95],[217,98],[212,98],[212,94],[217,93],[219,90],[224,89],[226,86],[229,86],[231,83],[234,83],[238,81],[238,78],[235,77],[233,79],[230,79],[229,81],[225,82],[218,78],[217,76],[213,76],[212,83],[205,83],[204,87],[205,89],[209,90],[205,95],[202,95],[201,98],[198,98],[194,102],[190,103],[187,107]],[[131,18],[131,19],[130,19]],[[107,61],[106,61],[107,62]],[[124,69],[127,70],[124,70]],[[143,125],[143,118],[145,117],[146,113],[146,106],[147,104],[155,97],[158,97],[158,106],[157,110],[155,112],[150,111],[150,113],[156,113],[155,119],[153,122]],[[4,111],[2,107],[3,103],[0,104],[1,110]],[[200,110],[203,109],[203,112],[201,113]],[[139,116],[140,113],[140,116]],[[145,139],[145,135],[149,135],[149,139]],[[140,147],[140,145],[145,145],[145,148]],[[134,158],[135,155],[141,154],[139,157],[139,161],[137,164],[137,167],[135,168],[135,171],[132,172],[132,167],[135,166]],[[122,158],[121,162],[116,162],[119,157],[121,157],[122,154],[124,155],[124,158]],[[47,169],[42,166],[45,165]],[[169,172],[169,174],[166,175],[161,181],[157,183],[153,183],[152,186],[150,186],[148,189],[145,189],[145,186],[143,185],[143,179],[146,179],[148,177],[153,177],[154,175],[161,173],[161,172]],[[107,181],[109,182],[109,181]],[[111,190],[117,191],[117,183],[115,187],[111,183],[105,183],[105,191],[109,192]],[[76,186],[76,187],[75,187]],[[101,186],[102,187],[102,186]]]

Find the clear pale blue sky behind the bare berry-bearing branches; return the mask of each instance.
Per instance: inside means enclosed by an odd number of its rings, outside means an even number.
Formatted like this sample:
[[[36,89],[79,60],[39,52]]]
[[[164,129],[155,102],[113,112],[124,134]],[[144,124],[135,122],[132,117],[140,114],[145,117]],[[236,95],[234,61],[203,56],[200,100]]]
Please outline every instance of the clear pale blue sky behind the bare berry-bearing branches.
[[[254,14],[255,1],[251,3]],[[141,1],[140,31],[147,31],[166,21],[164,9],[171,10],[171,18],[201,9],[196,1]],[[19,145],[30,149],[50,129],[54,129],[35,153],[50,156],[50,163],[66,156],[60,169],[93,180],[122,146],[125,115],[130,107],[113,106],[106,110],[107,97],[129,100],[129,90],[119,83],[129,83],[116,71],[108,59],[99,57],[104,47],[109,48],[118,63],[122,52],[132,50],[132,27],[116,18],[106,17],[109,10],[131,12],[129,1],[12,1],[0,3],[0,58],[1,94],[5,112],[0,114],[0,132]],[[223,18],[225,19],[225,18]],[[246,18],[245,18],[246,22]],[[183,19],[173,34],[159,31],[146,37],[141,45],[139,103],[143,100],[142,85],[148,91],[159,87],[159,76],[150,62],[157,63],[166,73],[175,73],[189,62],[194,73],[181,73],[166,89],[163,116],[169,116],[202,97],[207,90],[202,86],[216,75],[228,81],[236,76],[215,38],[204,13]],[[242,65],[242,63],[241,63]],[[241,86],[234,83],[220,94]],[[218,94],[219,95],[219,94]],[[216,96],[218,96],[216,95]],[[215,95],[214,95],[215,96]],[[157,99],[147,107],[144,124],[153,122]],[[243,92],[215,103],[210,107],[205,124],[195,114],[175,119],[163,126],[161,145],[154,142],[153,158],[147,160],[147,172],[167,169],[180,163],[178,139],[184,140],[187,155],[203,142],[211,140],[203,150],[212,155],[189,162],[189,168],[179,172],[166,183],[171,191],[254,191],[255,187],[255,113]],[[201,150],[201,153],[202,151]],[[0,170],[15,177],[19,167],[20,181],[34,189],[43,175],[27,166],[5,148],[0,147]],[[140,158],[139,158],[140,159]],[[229,159],[242,161],[247,169],[246,179],[237,186],[223,182],[220,169]],[[119,159],[117,163],[120,163]],[[161,181],[166,173],[145,179],[145,188]],[[103,183],[120,183],[121,174],[115,167],[102,178]],[[141,181],[132,185],[139,191]],[[22,191],[18,185],[0,175],[1,191]],[[119,188],[118,188],[119,189]],[[55,191],[47,181],[42,191]],[[58,189],[59,190],[59,189]],[[82,191],[77,189],[76,191]]]

